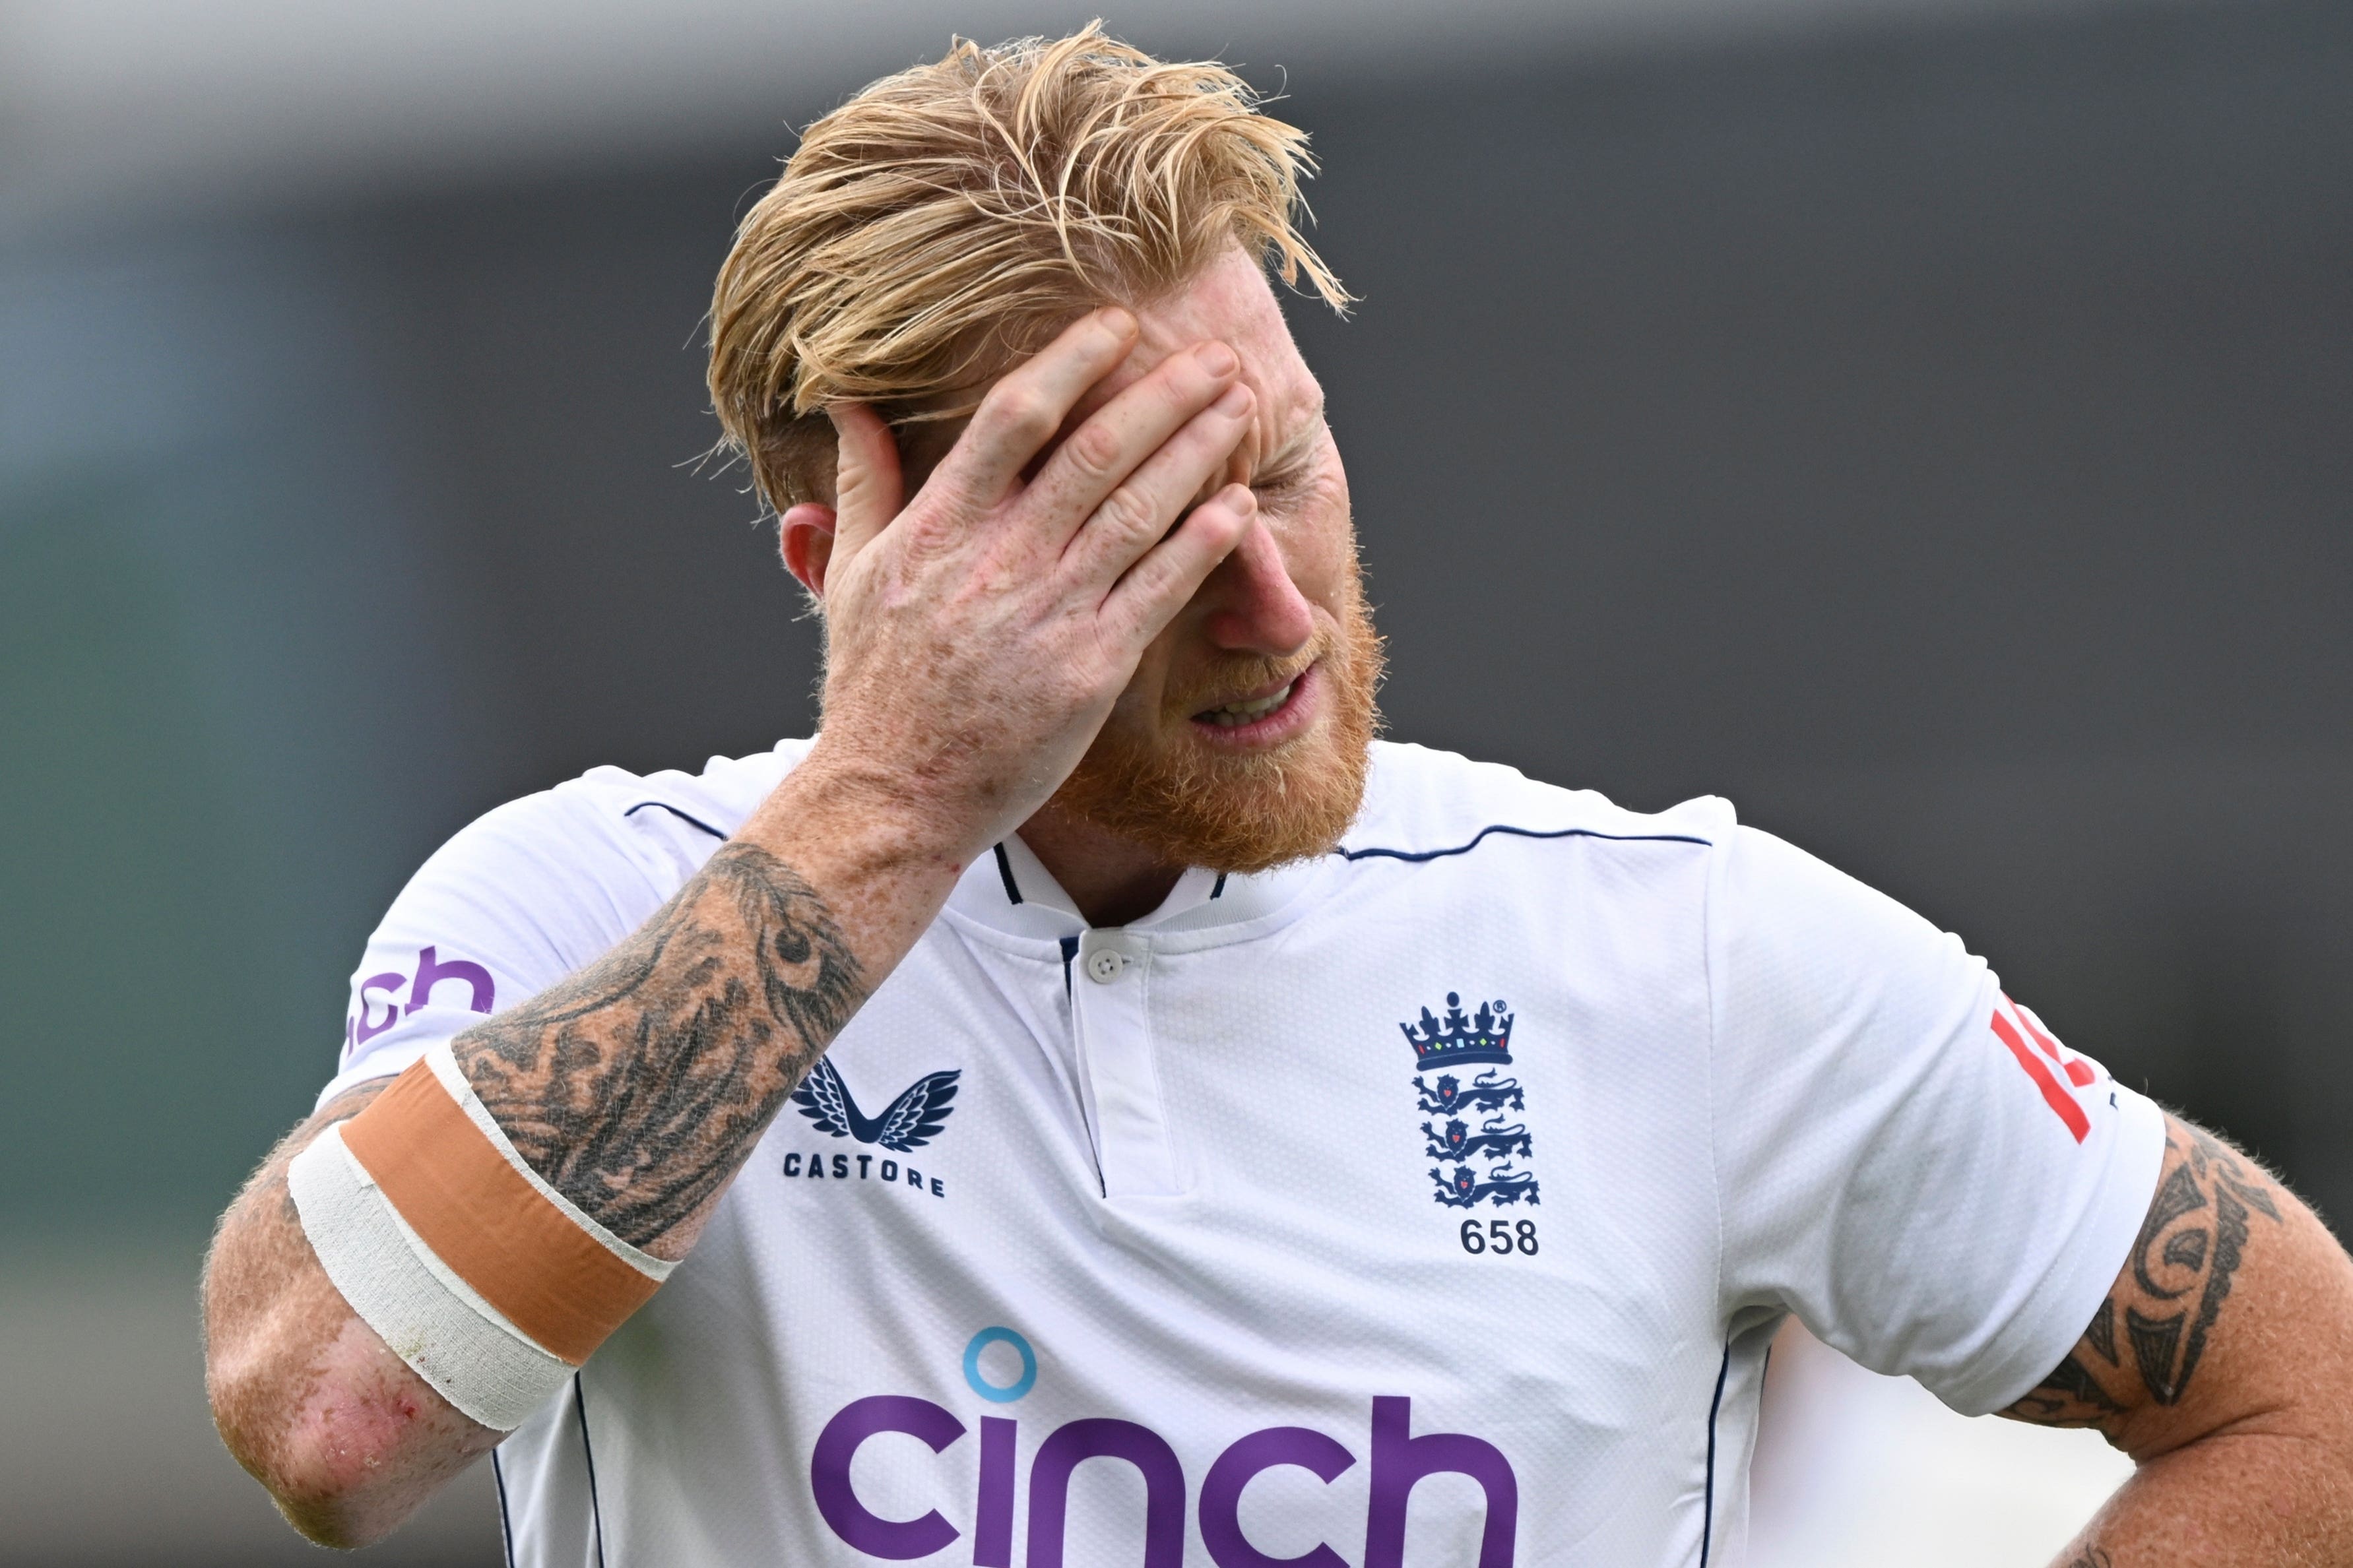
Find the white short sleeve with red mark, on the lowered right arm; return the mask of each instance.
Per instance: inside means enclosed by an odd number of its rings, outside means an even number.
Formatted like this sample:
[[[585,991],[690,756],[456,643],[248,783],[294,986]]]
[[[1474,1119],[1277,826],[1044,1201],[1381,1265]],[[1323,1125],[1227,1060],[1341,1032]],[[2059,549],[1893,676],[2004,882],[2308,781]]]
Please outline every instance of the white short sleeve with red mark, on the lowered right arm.
[[[1741,827],[1708,889],[1727,1314],[1795,1312],[1955,1410],[2073,1349],[2148,1211],[2162,1112],[1904,905]]]

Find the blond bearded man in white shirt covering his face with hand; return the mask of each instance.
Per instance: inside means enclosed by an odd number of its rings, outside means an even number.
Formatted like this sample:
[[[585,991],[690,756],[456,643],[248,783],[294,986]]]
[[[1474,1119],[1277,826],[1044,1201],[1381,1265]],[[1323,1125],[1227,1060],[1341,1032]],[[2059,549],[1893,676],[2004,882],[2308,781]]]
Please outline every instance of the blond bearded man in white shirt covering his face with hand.
[[[2353,1561],[2254,1161],[1722,802],[1372,745],[1304,165],[1094,31],[809,129],[711,383],[824,731],[402,891],[214,1246],[238,1458],[355,1544],[496,1446],[534,1566],[1708,1563],[1798,1314],[2125,1446],[2068,1561]]]

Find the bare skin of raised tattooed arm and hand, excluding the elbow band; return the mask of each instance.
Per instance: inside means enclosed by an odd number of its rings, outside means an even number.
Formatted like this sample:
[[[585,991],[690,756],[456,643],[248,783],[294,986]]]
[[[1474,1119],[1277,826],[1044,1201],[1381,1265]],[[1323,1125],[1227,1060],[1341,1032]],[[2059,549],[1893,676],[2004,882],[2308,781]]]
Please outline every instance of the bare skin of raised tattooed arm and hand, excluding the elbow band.
[[[962,867],[1068,776],[1221,562],[1282,569],[1257,496],[1219,477],[1257,409],[1233,350],[1162,355],[1073,416],[1139,331],[1127,313],[1073,322],[988,393],[913,496],[887,428],[838,411],[824,736],[635,936],[452,1041],[518,1152],[647,1251],[685,1255],[784,1095]],[[1301,604],[1235,571],[1209,599],[1195,621],[1266,639],[1289,632],[1254,630],[1254,607]],[[271,1154],[205,1276],[224,1441],[299,1530],[346,1547],[499,1436],[351,1314],[287,1199],[287,1161],[372,1093]]]

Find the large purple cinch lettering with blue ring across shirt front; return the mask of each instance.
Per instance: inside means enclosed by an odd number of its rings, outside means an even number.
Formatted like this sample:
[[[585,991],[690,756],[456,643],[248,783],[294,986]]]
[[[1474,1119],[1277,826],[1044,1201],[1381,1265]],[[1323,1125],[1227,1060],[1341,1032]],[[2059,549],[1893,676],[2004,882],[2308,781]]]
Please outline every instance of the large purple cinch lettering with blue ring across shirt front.
[[[1021,1354],[1021,1378],[993,1385],[981,1375],[981,1352],[1012,1345]],[[1012,1403],[1038,1382],[1038,1356],[1012,1328],[984,1328],[965,1347],[965,1382],[991,1403]],[[1372,1460],[1372,1500],[1365,1512],[1365,1568],[1402,1568],[1405,1512],[1414,1483],[1426,1476],[1457,1474],[1478,1481],[1487,1497],[1480,1528],[1478,1568],[1511,1568],[1513,1540],[1520,1526],[1520,1481],[1504,1453],[1459,1432],[1412,1434],[1414,1401],[1377,1396],[1367,1453]],[[816,1434],[809,1455],[809,1493],[826,1526],[866,1556],[908,1561],[932,1556],[953,1544],[962,1530],[939,1509],[922,1519],[882,1519],[868,1509],[849,1483],[849,1465],[859,1446],[880,1434],[901,1432],[920,1439],[932,1453],[944,1453],[965,1436],[965,1422],[929,1399],[908,1394],[873,1394],[842,1406]],[[972,1500],[974,1568],[1012,1568],[1014,1488],[1019,1483],[1021,1422],[1002,1415],[981,1418],[981,1481]],[[1028,1542],[1026,1568],[1061,1568],[1064,1528],[1071,1502],[1071,1472],[1085,1460],[1122,1460],[1144,1476],[1144,1568],[1184,1568],[1186,1547],[1186,1474],[1165,1436],[1132,1420],[1087,1418],[1054,1427],[1028,1467]],[[1198,1521],[1202,1547],[1217,1568],[1348,1568],[1329,1544],[1289,1559],[1261,1552],[1242,1535],[1242,1488],[1278,1465],[1297,1465],[1318,1481],[1334,1481],[1358,1455],[1339,1439],[1313,1427],[1266,1427],[1226,1446],[1200,1483]]]

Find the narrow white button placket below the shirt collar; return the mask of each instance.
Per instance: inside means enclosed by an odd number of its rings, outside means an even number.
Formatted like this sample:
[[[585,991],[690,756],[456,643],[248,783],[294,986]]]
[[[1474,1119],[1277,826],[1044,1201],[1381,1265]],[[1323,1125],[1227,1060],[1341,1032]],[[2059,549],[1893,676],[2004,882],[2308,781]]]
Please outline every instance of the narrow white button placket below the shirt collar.
[[[1080,938],[1080,985],[1071,1016],[1104,1171],[1104,1197],[1165,1197],[1179,1192],[1169,1152],[1160,1070],[1151,1037],[1151,940],[1127,931]]]

